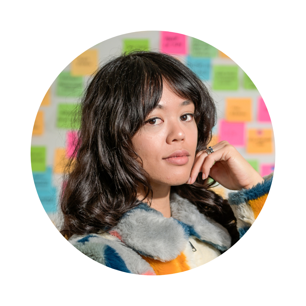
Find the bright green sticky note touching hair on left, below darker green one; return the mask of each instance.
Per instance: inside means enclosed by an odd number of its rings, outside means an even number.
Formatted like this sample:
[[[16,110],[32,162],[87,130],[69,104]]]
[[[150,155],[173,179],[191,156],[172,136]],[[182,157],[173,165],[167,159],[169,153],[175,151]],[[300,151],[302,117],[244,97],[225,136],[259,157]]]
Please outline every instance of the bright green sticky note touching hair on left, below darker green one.
[[[80,129],[80,104],[59,103],[56,126],[60,129]]]

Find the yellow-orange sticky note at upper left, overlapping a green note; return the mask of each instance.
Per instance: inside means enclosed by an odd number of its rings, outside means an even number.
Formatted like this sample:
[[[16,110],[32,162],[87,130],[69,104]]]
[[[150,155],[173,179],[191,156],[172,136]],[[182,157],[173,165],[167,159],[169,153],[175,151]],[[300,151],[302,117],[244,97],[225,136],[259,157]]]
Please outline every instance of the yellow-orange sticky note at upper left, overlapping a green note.
[[[71,62],[71,75],[93,74],[98,68],[98,50],[86,50]]]

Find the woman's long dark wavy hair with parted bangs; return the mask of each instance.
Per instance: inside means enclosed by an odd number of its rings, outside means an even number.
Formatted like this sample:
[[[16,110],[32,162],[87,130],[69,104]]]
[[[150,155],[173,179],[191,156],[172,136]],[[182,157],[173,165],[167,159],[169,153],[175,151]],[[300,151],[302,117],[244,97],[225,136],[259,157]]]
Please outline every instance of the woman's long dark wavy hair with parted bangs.
[[[193,101],[196,153],[207,148],[216,108],[195,73],[176,58],[158,52],[133,52],[109,61],[96,72],[81,101],[76,158],[69,161],[60,200],[61,233],[67,239],[73,234],[108,231],[125,212],[152,198],[149,176],[136,161],[139,156],[131,139],[159,103],[163,82],[181,98]],[[210,189],[215,181],[208,183],[201,176],[192,185],[172,186],[171,192],[222,224],[233,245],[239,239],[233,211],[227,200]],[[138,186],[146,191],[142,200],[137,199]]]

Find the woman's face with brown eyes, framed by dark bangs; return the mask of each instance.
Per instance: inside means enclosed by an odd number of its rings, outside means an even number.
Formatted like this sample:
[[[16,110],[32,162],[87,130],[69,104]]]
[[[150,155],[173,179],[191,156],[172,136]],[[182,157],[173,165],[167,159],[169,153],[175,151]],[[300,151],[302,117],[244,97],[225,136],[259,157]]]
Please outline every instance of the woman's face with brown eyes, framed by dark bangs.
[[[188,181],[198,138],[194,111],[192,101],[178,97],[164,82],[158,106],[132,138],[152,183],[174,186]]]

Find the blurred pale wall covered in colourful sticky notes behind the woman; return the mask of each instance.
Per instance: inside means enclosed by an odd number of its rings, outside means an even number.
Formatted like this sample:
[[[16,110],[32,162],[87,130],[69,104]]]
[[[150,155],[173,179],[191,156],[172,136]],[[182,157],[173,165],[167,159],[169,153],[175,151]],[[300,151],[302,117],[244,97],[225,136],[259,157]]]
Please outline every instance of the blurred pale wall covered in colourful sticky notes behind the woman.
[[[73,152],[78,126],[72,126],[80,96],[95,70],[122,52],[153,50],[168,53],[192,69],[210,90],[218,123],[210,145],[227,140],[262,176],[275,167],[274,132],[263,97],[251,78],[231,58],[209,43],[180,33],[133,32],[107,39],[84,50],[50,84],[35,118],[31,167],[39,200],[59,226],[58,195],[62,174]],[[252,77],[252,76],[251,76]],[[215,192],[227,198],[229,190]]]

